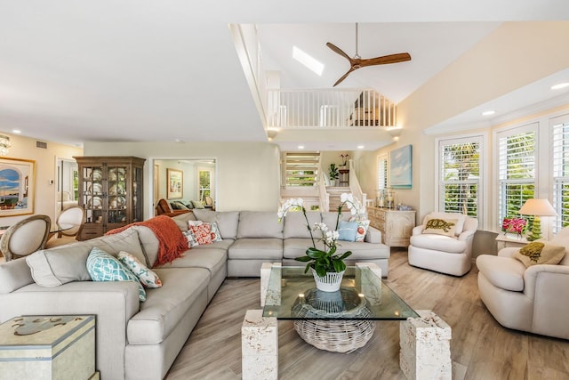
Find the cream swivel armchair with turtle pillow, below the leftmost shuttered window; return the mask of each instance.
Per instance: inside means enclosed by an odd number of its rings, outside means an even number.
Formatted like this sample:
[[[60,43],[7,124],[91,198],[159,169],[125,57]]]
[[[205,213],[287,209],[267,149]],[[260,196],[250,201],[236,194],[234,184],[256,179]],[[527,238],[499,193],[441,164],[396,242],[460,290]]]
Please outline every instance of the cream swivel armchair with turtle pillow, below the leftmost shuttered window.
[[[432,222],[426,229],[429,221]],[[472,239],[477,228],[477,219],[463,214],[428,214],[421,225],[413,228],[409,264],[454,276],[464,275],[472,265]]]

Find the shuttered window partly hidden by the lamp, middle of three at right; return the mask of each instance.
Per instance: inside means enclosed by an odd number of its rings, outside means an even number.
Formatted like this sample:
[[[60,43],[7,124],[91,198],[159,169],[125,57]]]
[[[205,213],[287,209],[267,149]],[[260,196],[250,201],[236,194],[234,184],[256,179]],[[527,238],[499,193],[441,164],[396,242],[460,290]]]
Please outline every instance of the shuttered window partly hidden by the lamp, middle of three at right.
[[[517,215],[535,191],[535,146],[537,124],[497,133],[498,228],[506,216]]]

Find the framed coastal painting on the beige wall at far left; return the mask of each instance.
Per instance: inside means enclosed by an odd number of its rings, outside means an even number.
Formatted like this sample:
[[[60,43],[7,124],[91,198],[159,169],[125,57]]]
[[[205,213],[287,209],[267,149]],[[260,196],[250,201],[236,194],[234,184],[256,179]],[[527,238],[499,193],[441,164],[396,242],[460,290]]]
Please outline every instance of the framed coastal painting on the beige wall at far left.
[[[0,158],[0,217],[34,214],[36,161]]]

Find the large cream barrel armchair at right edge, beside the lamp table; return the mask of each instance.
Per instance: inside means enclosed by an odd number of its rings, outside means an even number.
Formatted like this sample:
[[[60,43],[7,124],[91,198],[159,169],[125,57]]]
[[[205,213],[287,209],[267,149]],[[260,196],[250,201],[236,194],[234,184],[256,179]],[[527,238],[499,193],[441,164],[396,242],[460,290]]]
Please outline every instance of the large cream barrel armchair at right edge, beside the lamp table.
[[[519,248],[479,255],[478,290],[486,308],[503,327],[569,339],[569,227],[550,241],[565,247],[561,263],[528,268],[513,257]]]

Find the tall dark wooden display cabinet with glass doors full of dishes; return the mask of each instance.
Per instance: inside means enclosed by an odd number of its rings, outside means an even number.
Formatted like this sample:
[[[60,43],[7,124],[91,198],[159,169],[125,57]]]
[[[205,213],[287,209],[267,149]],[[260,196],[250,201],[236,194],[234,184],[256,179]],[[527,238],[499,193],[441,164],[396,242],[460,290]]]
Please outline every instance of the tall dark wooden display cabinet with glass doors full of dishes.
[[[102,236],[108,230],[143,220],[144,158],[76,157],[79,206],[85,219],[78,240]]]

